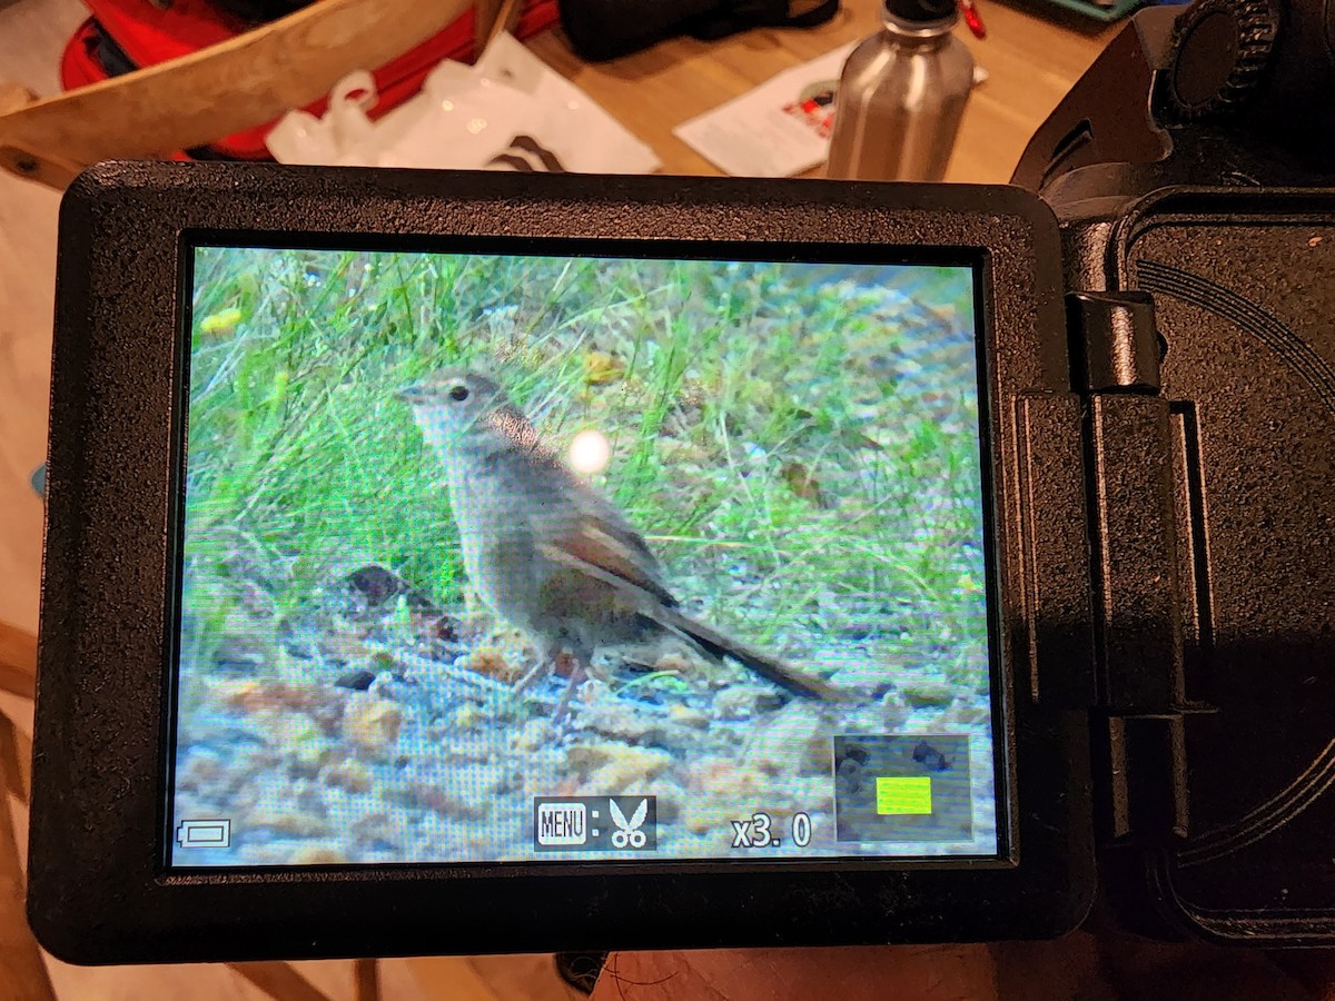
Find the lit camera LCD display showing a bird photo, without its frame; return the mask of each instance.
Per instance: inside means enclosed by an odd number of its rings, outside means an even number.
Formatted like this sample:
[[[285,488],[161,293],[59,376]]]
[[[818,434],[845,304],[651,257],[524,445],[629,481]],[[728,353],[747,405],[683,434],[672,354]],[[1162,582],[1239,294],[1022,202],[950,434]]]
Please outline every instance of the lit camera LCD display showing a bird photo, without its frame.
[[[977,268],[191,255],[170,866],[1001,853]]]

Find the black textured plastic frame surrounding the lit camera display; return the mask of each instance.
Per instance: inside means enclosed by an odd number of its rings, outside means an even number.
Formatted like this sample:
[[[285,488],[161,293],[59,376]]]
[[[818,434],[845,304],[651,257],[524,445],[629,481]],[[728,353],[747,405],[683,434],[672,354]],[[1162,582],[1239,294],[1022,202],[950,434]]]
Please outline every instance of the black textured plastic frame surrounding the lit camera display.
[[[1084,723],[1016,697],[1033,637],[1017,635],[1028,619],[1016,614],[1015,399],[1069,387],[1059,238],[1036,199],[1007,188],[112,164],[75,184],[61,230],[31,894],[53,952],[125,962],[944,941],[1056,933],[1083,914],[1093,878]],[[908,256],[979,266],[1000,857],[167,869],[186,279],[192,248],[218,243],[725,259],[744,244],[754,259],[860,263],[901,263],[912,246]],[[878,250],[888,246],[894,255]],[[120,586],[107,587],[112,579]],[[101,818],[97,836],[73,823],[89,815]],[[732,913],[714,913],[716,894]],[[804,913],[817,900],[824,920]],[[442,913],[466,917],[442,925]]]

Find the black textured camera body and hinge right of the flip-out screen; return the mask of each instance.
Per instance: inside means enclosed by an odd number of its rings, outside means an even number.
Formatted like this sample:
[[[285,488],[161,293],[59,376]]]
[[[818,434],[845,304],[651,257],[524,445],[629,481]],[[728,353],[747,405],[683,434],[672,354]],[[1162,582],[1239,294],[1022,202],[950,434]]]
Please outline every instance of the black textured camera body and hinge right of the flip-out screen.
[[[1159,936],[1335,925],[1335,4],[1137,15],[1015,183],[1057,214],[1100,884]]]

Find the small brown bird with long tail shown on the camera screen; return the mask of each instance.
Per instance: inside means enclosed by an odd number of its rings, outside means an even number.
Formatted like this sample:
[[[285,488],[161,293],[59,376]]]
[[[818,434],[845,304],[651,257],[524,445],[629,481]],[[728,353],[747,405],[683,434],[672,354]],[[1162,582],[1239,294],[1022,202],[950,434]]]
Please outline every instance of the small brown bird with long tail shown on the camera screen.
[[[602,646],[668,633],[796,695],[832,695],[824,681],[684,615],[639,533],[491,379],[450,368],[398,395],[445,466],[469,581],[546,658],[565,651],[582,669]]]

